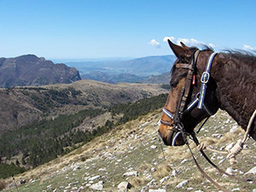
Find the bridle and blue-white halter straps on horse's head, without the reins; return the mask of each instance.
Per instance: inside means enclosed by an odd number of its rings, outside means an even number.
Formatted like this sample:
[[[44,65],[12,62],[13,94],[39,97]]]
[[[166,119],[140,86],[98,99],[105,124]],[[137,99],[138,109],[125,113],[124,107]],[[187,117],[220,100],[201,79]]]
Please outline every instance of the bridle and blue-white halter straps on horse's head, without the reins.
[[[191,90],[191,84],[195,84],[195,67],[196,67],[196,61],[199,54],[200,54],[200,50],[197,49],[195,53],[192,55],[192,58],[189,64],[188,63],[175,64],[175,67],[188,69],[189,72],[186,77],[186,82],[182,89],[182,94],[177,104],[176,113],[173,114],[170,111],[168,111],[166,108],[163,109],[163,113],[165,113],[169,117],[169,119],[172,119],[173,123],[160,119],[161,124],[169,126],[170,128],[168,128],[168,130],[171,130],[175,133],[172,139],[172,146],[175,146],[176,139],[179,135],[181,134],[183,135],[184,141],[186,140],[186,137],[190,135],[189,132],[185,130],[182,123],[182,119],[183,119],[183,115],[185,113],[188,113],[192,108],[194,108],[196,104],[197,104],[197,108],[205,110],[208,114],[210,114],[210,116],[213,114],[207,108],[207,105],[205,104],[204,100],[207,92],[207,83],[210,79],[210,70],[212,67],[212,61],[215,55],[217,55],[217,53],[212,53],[212,55],[210,55],[210,57],[208,58],[206,70],[201,75],[201,89],[196,94],[194,100],[190,102],[188,105],[186,105],[187,99]]]

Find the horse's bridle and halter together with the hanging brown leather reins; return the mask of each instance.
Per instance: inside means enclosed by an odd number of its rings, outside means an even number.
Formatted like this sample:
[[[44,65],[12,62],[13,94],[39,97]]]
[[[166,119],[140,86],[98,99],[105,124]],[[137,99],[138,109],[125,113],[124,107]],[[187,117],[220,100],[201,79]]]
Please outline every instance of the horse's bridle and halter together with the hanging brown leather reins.
[[[230,190],[225,189],[223,186],[219,185],[218,183],[216,183],[211,177],[209,177],[207,175],[206,172],[203,171],[203,169],[201,168],[201,166],[198,164],[197,160],[195,160],[195,156],[192,153],[191,148],[189,147],[189,143],[187,140],[187,137],[192,137],[193,141],[195,142],[196,146],[198,146],[200,143],[198,141],[198,139],[195,136],[195,132],[188,132],[185,130],[182,121],[183,115],[185,113],[188,113],[192,108],[195,108],[195,105],[197,104],[197,108],[199,109],[203,109],[205,110],[210,116],[212,116],[212,112],[207,108],[207,105],[204,103],[204,99],[206,96],[206,92],[207,92],[207,83],[210,79],[210,70],[212,67],[212,61],[214,59],[214,57],[217,55],[217,53],[212,53],[210,55],[210,57],[208,58],[207,61],[207,67],[204,73],[202,73],[201,75],[201,89],[200,91],[196,94],[194,100],[192,102],[190,102],[188,105],[186,105],[188,96],[189,96],[189,92],[191,90],[191,85],[195,84],[195,67],[196,67],[196,61],[198,58],[198,55],[200,54],[200,50],[196,50],[195,53],[192,55],[192,59],[191,61],[188,63],[176,63],[175,67],[177,68],[186,68],[189,70],[188,74],[187,74],[187,78],[186,78],[186,82],[183,86],[182,89],[182,95],[180,97],[180,100],[177,104],[177,110],[176,113],[171,113],[170,111],[168,111],[166,108],[163,109],[163,113],[165,113],[169,119],[172,119],[173,123],[169,122],[169,121],[165,121],[163,119],[160,119],[160,123],[163,125],[167,125],[171,129],[172,131],[175,132],[175,135],[172,139],[172,146],[175,146],[176,143],[176,139],[178,136],[182,135],[183,137],[183,141],[187,144],[188,148],[189,148],[189,152],[192,155],[193,160],[195,161],[195,165],[197,166],[197,168],[199,169],[199,171],[201,172],[201,174],[207,178],[207,180],[209,180],[213,185],[215,185],[218,189],[223,190],[224,192],[230,192]],[[209,118],[209,117],[208,117]],[[207,119],[208,119],[207,118]],[[203,122],[202,125],[204,125],[207,121],[207,119]],[[201,127],[202,127],[201,125]],[[198,131],[201,130],[201,127]],[[197,131],[197,133],[198,133]],[[224,175],[231,177],[233,179],[236,179],[239,182],[252,182],[252,179],[241,179],[239,177],[235,177],[233,175],[230,175],[230,173],[224,172],[222,169],[220,169],[218,166],[216,166],[212,160],[210,160],[207,157],[207,154],[204,153],[204,151],[202,149],[200,149],[201,154],[205,157],[205,159],[215,168],[218,170],[218,172],[223,173]]]

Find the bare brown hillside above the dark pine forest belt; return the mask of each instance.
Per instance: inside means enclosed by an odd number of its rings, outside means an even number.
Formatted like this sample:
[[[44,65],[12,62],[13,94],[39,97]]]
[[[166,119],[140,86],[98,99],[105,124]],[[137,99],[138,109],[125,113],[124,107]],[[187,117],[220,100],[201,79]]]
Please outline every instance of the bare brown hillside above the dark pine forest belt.
[[[166,93],[156,84],[105,84],[80,80],[72,84],[20,87],[0,90],[0,135],[60,113],[84,108],[109,108]]]

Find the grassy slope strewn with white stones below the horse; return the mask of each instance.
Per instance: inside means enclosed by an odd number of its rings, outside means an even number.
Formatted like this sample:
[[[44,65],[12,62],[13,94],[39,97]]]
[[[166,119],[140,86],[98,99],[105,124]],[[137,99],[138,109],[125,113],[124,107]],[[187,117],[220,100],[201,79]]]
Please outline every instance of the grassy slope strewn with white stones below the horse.
[[[94,141],[36,169],[15,177],[20,192],[35,191],[120,191],[119,183],[131,184],[128,191],[219,191],[201,176],[189,150],[166,147],[158,137],[160,110],[133,120]],[[225,151],[242,138],[244,131],[227,113],[218,111],[199,134],[209,148]],[[238,183],[210,166],[189,141],[204,170],[230,191],[256,191],[256,184]],[[222,169],[237,177],[256,177],[256,143],[249,139],[237,163],[230,165],[225,154],[208,152]],[[252,173],[248,173],[251,170]],[[26,183],[20,184],[22,179]],[[17,191],[9,178],[9,189]],[[158,189],[158,190],[157,190]]]

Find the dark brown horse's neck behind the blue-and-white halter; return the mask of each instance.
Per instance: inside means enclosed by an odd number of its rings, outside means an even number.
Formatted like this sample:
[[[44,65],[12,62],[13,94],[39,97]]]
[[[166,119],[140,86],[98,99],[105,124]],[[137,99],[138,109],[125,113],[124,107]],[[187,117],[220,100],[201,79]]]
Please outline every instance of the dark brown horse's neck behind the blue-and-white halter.
[[[218,54],[212,64],[211,75],[217,84],[219,107],[243,129],[256,109],[255,67],[253,56],[223,53]]]

